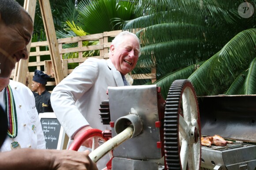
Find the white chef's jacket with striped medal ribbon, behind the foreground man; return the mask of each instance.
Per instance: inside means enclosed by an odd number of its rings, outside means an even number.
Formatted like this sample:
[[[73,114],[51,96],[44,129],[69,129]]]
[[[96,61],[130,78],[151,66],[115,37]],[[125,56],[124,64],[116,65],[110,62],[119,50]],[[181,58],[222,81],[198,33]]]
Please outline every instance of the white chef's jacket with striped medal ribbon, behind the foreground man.
[[[3,79],[0,82],[1,80]],[[0,151],[17,148],[45,149],[45,137],[32,91],[13,80],[0,90],[0,105],[8,116],[8,134]]]

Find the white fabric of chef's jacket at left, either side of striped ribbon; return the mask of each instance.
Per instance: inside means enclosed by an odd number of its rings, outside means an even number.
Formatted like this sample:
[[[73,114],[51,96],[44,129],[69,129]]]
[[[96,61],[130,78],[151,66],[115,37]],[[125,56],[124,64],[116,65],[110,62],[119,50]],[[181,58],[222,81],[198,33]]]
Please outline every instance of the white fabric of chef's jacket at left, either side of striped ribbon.
[[[24,84],[10,80],[9,85],[15,100],[18,134],[14,141],[19,142],[21,148],[45,149],[45,137],[41,122],[35,108],[32,91]],[[0,92],[0,105],[5,110],[5,89]],[[12,138],[8,135],[0,152],[11,150]]]

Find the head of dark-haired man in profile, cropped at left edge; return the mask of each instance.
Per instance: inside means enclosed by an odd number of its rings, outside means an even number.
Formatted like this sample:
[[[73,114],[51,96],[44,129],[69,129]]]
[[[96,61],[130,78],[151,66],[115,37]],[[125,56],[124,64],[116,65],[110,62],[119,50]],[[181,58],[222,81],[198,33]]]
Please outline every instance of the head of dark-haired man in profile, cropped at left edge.
[[[9,78],[15,64],[28,58],[33,34],[30,15],[14,0],[0,0],[0,78]]]

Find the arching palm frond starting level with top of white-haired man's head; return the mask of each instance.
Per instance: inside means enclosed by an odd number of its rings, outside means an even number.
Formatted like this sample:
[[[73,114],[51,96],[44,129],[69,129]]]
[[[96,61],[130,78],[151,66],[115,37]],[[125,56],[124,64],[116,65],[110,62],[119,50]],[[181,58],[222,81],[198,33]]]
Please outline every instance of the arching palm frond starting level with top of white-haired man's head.
[[[215,46],[220,49],[225,43],[222,44],[217,37],[229,39],[230,35],[223,32],[215,35],[217,32],[219,32],[218,29],[205,24],[171,22],[149,26],[136,32],[136,35],[139,37],[142,47],[170,40],[195,39],[206,45],[211,44],[211,48]]]

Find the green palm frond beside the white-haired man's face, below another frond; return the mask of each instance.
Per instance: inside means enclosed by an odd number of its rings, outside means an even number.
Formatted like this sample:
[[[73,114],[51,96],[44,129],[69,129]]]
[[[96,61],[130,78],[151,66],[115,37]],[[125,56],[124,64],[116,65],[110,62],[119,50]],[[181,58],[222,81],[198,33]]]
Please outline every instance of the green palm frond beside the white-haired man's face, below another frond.
[[[203,43],[196,39],[173,40],[142,47],[136,67],[152,67],[157,64],[157,72],[161,72],[160,69],[170,72],[198,60],[205,60],[208,56],[209,51],[203,50]]]

